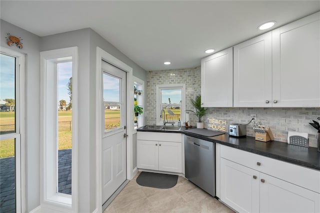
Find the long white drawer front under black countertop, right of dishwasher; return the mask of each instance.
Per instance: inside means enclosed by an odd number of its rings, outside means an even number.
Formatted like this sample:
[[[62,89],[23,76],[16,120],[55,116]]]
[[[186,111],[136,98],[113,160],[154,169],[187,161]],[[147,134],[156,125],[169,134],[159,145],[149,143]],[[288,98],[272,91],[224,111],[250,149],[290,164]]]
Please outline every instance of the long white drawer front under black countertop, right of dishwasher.
[[[320,171],[221,146],[221,157],[320,193]],[[258,165],[260,163],[260,165]]]

